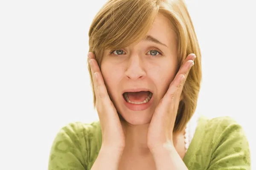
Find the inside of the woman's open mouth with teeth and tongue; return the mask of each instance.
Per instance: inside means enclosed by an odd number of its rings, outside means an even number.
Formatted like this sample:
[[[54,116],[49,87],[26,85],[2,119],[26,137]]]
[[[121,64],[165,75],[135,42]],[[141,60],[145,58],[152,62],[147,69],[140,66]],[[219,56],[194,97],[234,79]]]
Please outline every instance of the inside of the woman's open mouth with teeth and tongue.
[[[122,94],[126,102],[141,105],[151,100],[153,94],[150,91],[125,92]]]

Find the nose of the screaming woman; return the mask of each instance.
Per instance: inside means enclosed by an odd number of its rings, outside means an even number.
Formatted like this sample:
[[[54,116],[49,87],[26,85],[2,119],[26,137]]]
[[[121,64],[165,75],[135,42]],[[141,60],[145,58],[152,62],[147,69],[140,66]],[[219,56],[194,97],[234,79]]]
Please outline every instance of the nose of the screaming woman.
[[[125,75],[128,77],[128,79],[132,80],[143,79],[145,77],[146,72],[143,68],[143,62],[139,56],[132,55],[129,58]]]

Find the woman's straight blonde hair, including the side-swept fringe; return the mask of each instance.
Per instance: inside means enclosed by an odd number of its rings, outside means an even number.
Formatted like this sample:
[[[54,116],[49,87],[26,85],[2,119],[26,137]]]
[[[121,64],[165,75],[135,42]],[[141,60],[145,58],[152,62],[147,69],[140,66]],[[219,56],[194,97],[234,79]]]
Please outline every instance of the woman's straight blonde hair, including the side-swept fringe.
[[[108,0],[89,30],[89,51],[101,66],[106,49],[121,49],[145,38],[157,14],[167,17],[177,36],[178,65],[191,53],[197,57],[183,87],[174,132],[183,130],[195,112],[201,86],[201,51],[192,20],[183,0]],[[93,87],[90,66],[90,79]],[[93,89],[93,103],[96,96]]]

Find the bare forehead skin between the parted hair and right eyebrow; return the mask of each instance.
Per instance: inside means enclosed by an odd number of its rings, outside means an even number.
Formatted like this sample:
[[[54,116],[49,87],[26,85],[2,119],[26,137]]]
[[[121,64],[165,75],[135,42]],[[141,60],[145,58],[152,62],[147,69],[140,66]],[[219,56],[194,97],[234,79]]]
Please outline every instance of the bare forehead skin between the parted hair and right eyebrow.
[[[176,44],[176,35],[171,21],[161,14],[157,14],[153,25],[148,31],[148,35],[157,38],[168,48]]]

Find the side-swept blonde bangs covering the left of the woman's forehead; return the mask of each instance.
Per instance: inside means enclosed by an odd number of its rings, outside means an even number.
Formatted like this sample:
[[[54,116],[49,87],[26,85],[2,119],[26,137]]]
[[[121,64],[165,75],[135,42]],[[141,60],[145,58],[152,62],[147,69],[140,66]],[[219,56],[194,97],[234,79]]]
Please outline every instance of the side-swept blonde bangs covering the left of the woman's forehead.
[[[93,21],[91,43],[96,49],[119,49],[140,42],[151,28],[159,6],[160,1],[155,0],[108,1]]]

